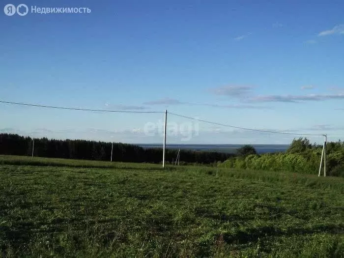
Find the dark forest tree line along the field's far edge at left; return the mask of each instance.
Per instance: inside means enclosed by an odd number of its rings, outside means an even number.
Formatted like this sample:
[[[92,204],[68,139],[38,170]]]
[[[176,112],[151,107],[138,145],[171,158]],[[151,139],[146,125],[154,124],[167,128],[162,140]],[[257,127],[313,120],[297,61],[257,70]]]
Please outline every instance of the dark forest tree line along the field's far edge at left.
[[[32,154],[32,138],[17,134],[0,134],[0,154],[24,155]],[[33,155],[37,157],[103,160],[110,161],[112,143],[85,141],[85,140],[55,140],[34,139]],[[172,162],[176,158],[178,150],[167,149],[166,161]],[[143,148],[133,144],[114,143],[113,161],[120,162],[162,162],[162,148]],[[234,154],[180,150],[180,161],[183,163],[212,164],[225,161]]]

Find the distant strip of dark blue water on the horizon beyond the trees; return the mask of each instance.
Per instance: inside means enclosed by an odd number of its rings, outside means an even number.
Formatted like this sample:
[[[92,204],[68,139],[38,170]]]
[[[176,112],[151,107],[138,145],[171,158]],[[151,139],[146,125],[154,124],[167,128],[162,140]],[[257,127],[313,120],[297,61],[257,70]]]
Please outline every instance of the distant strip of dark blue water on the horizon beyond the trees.
[[[143,148],[161,148],[162,144],[136,144]],[[187,149],[199,151],[218,151],[225,153],[235,153],[236,149],[244,146],[245,144],[167,144],[169,149]],[[289,147],[288,144],[252,144],[257,153],[273,153],[285,152]]]

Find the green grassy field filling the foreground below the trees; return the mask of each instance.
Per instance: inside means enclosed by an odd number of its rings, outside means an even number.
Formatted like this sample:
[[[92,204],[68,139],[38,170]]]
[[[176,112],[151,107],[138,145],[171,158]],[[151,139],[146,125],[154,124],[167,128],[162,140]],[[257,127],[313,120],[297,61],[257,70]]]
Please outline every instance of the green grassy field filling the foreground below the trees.
[[[0,156],[2,256],[344,257],[343,178],[160,167]]]

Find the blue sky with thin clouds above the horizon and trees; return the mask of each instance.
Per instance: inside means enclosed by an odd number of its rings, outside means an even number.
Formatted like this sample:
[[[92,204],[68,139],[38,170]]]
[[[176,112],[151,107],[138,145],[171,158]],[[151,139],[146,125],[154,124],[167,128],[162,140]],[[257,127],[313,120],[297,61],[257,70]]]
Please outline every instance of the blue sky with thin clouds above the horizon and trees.
[[[10,3],[27,4],[29,13],[0,15],[0,100],[167,109],[234,126],[343,139],[343,1]],[[87,7],[91,12],[38,14],[31,13],[31,6]],[[0,104],[0,116],[1,132],[162,142],[163,114]],[[168,143],[289,143],[297,137],[173,115],[168,121]]]

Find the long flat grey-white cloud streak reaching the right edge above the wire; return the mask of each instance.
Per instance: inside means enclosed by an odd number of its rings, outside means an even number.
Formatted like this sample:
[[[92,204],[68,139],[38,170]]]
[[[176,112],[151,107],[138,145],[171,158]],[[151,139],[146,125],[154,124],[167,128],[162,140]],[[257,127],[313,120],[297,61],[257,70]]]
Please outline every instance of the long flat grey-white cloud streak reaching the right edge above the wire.
[[[258,95],[249,99],[250,102],[304,102],[344,99],[344,94],[309,94],[309,95]]]

